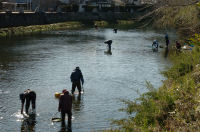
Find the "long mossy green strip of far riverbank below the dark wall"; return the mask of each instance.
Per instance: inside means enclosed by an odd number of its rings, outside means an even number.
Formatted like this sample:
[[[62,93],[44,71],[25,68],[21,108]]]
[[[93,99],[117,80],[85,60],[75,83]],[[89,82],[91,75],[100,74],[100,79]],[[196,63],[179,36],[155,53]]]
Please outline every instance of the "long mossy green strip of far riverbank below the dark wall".
[[[0,38],[10,38],[16,36],[25,36],[40,34],[44,31],[54,31],[54,30],[66,30],[66,29],[80,29],[87,27],[94,27],[97,25],[101,28],[115,27],[115,28],[125,28],[133,27],[134,22],[132,20],[118,20],[116,23],[109,23],[107,21],[94,21],[88,24],[81,22],[63,22],[48,25],[32,25],[32,26],[19,26],[10,28],[0,28]]]

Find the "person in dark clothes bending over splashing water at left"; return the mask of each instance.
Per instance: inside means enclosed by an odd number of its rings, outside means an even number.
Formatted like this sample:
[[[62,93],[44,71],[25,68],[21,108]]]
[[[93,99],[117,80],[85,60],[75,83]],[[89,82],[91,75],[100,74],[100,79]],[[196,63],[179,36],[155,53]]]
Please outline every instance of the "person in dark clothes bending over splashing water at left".
[[[21,100],[21,103],[22,103],[21,114],[23,114],[25,101],[26,101],[26,104],[25,104],[25,112],[26,112],[26,114],[28,114],[30,103],[32,105],[32,110],[35,111],[36,93],[34,91],[32,91],[30,89],[27,89],[27,90],[24,91],[24,93],[21,93],[19,95],[19,97],[20,97],[20,100]]]

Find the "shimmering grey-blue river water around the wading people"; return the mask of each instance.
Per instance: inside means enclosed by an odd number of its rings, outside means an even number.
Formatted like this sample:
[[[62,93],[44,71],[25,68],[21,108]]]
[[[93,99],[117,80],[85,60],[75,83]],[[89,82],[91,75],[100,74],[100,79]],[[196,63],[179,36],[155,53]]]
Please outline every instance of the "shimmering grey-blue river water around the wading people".
[[[160,75],[169,62],[163,49],[152,52],[154,31],[87,29],[55,31],[36,36],[0,41],[0,131],[59,132],[60,123],[55,92],[71,90],[70,74],[76,66],[82,70],[84,94],[74,96],[72,131],[88,132],[110,128],[110,119],[126,117],[118,109],[119,99],[134,99],[136,91],[147,91],[145,81],[156,88],[164,80]],[[112,55],[106,54],[105,40],[112,39]],[[163,40],[162,40],[163,41]],[[161,42],[162,43],[162,42]],[[19,93],[25,89],[37,93],[36,116],[20,114]],[[115,127],[115,126],[112,126]]]

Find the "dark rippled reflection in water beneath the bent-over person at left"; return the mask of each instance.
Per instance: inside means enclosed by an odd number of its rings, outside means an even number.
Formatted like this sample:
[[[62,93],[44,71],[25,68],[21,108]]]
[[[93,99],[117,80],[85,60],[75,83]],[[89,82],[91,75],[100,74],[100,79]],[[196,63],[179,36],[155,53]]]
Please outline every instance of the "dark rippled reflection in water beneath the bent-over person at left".
[[[35,132],[36,114],[29,114],[29,117],[22,121],[21,132]]]

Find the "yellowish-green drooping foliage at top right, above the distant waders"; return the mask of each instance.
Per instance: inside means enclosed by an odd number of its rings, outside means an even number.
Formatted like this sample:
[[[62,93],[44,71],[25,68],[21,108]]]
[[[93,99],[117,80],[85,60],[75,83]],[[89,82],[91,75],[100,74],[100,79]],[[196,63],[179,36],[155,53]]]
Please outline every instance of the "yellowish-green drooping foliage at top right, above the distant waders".
[[[153,27],[157,29],[176,29],[181,36],[194,34],[200,25],[199,6],[161,7],[155,12]]]

